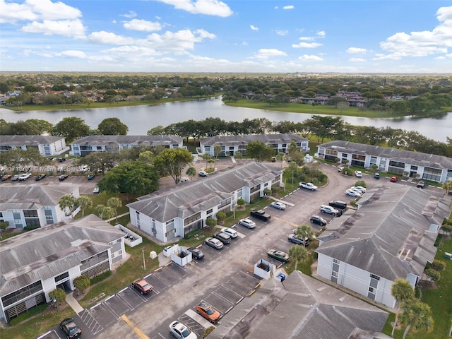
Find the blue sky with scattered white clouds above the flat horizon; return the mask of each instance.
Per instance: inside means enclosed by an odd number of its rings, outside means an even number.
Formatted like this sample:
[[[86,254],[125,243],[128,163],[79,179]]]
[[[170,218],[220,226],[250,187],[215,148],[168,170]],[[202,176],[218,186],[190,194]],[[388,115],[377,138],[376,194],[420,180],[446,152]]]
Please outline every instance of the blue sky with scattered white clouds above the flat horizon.
[[[0,44],[0,71],[452,73],[452,6],[0,0]]]

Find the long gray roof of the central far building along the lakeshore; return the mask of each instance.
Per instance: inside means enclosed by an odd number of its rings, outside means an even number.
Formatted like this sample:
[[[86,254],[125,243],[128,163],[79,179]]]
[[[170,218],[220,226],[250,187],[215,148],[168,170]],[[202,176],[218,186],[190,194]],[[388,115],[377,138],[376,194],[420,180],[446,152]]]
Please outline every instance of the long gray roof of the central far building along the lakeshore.
[[[247,145],[251,141],[258,141],[261,143],[287,143],[291,141],[299,142],[307,141],[307,138],[303,138],[297,134],[284,133],[284,134],[251,134],[247,136],[211,136],[209,138],[199,139],[201,145]]]

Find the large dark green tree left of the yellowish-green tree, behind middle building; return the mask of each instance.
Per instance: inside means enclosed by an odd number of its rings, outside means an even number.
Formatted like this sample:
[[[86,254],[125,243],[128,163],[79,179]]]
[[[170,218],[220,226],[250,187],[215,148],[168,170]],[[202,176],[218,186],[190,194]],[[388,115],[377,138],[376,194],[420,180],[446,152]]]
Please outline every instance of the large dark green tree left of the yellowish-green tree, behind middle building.
[[[141,161],[124,161],[110,169],[97,184],[109,193],[149,194],[158,189],[158,173],[155,167]]]

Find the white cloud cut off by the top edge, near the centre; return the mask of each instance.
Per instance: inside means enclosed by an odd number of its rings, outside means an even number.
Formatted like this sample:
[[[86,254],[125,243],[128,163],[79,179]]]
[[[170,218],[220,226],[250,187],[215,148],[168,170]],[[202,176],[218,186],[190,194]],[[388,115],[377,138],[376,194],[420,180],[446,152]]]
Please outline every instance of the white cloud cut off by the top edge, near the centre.
[[[192,14],[206,14],[208,16],[227,17],[232,15],[232,10],[222,1],[218,0],[157,0],[174,8],[182,9]]]

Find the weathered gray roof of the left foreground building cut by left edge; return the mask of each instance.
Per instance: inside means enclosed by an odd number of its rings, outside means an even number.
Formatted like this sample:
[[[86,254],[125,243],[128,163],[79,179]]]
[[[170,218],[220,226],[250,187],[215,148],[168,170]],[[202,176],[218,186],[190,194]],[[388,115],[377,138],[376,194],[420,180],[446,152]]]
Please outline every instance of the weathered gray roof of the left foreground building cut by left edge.
[[[92,214],[6,239],[0,242],[0,295],[66,272],[123,236]]]

